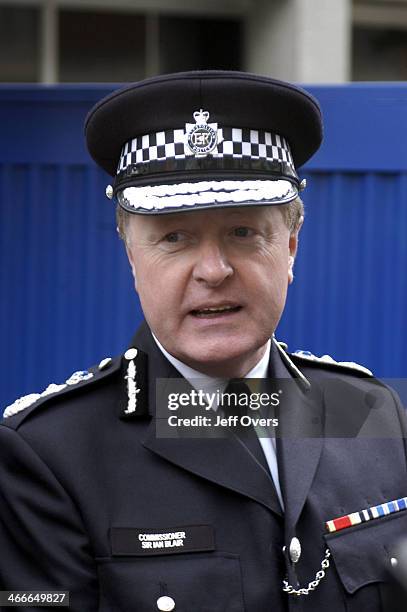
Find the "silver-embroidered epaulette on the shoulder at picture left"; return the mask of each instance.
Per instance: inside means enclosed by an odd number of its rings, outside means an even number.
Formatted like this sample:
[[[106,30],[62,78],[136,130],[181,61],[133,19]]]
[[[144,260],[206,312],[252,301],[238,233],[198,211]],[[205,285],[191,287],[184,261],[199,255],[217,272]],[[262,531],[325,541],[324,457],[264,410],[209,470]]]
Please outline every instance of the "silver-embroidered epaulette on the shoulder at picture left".
[[[113,360],[111,357],[105,357],[98,366],[89,368],[89,370],[78,370],[62,384],[51,383],[41,393],[30,393],[18,398],[15,402],[7,406],[4,410],[3,418],[11,417],[18,414],[22,410],[37,406],[43,401],[48,400],[51,396],[70,393],[74,389],[84,387],[87,384],[92,384],[105,376],[112,374],[121,365],[120,358]]]

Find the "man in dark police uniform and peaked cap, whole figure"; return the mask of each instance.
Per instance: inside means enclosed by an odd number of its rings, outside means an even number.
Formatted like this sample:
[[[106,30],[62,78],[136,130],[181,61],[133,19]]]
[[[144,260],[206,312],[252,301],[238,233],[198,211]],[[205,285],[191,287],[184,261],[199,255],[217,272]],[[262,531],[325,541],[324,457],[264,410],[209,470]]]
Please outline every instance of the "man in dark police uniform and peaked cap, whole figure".
[[[274,337],[297,169],[321,138],[308,93],[237,72],[149,79],[92,109],[88,148],[113,177],[146,322],[123,355],[6,409],[2,590],[66,590],[77,612],[386,609],[407,527],[399,401]],[[180,384],[205,400],[202,429],[223,415],[230,431],[231,379],[258,379],[273,419],[246,437],[172,435]]]

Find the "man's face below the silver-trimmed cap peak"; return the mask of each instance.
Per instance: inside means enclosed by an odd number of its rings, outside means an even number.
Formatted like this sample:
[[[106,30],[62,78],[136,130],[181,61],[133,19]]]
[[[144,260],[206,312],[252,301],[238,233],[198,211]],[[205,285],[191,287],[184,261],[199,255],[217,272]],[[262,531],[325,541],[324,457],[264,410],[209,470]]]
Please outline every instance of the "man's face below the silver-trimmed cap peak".
[[[276,206],[133,215],[127,252],[164,348],[210,376],[247,374],[282,314],[297,234]]]

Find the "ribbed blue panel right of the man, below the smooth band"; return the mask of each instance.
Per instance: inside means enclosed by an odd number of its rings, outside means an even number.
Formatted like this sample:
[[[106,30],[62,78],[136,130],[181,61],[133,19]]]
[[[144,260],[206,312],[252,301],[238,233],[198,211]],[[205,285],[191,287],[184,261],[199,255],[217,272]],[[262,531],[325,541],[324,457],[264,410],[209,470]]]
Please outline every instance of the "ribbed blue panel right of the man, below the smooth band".
[[[307,173],[306,221],[279,336],[407,371],[407,173]]]

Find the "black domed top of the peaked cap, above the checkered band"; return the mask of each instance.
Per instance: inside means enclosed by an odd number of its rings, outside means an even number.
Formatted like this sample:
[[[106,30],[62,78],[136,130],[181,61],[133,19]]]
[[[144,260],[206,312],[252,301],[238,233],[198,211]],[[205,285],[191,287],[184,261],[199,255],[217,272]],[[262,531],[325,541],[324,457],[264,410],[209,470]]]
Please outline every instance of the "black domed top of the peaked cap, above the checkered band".
[[[302,166],[322,141],[318,102],[303,89],[245,72],[195,71],[168,74],[113,92],[85,122],[89,152],[115,176],[120,152],[131,138],[193,122],[198,109],[220,126],[262,129],[284,136],[294,164]]]

